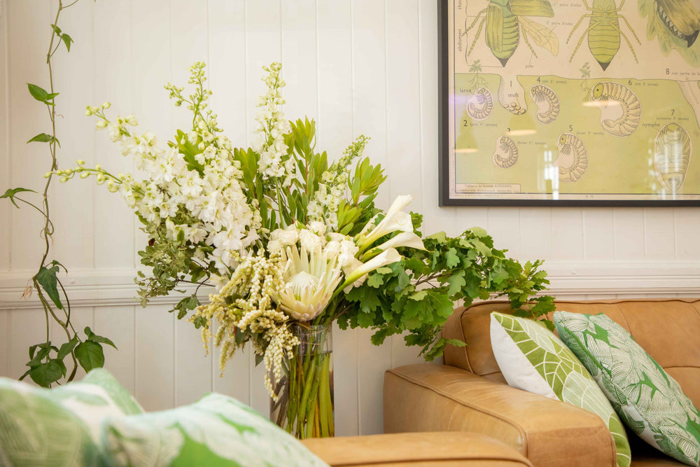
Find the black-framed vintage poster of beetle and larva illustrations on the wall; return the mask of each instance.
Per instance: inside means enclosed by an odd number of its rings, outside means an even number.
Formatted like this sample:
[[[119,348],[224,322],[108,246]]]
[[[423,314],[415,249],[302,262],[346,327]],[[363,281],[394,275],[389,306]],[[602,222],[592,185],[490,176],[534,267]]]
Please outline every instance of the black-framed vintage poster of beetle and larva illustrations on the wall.
[[[441,206],[700,206],[700,1],[438,16]]]

